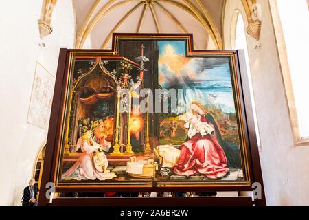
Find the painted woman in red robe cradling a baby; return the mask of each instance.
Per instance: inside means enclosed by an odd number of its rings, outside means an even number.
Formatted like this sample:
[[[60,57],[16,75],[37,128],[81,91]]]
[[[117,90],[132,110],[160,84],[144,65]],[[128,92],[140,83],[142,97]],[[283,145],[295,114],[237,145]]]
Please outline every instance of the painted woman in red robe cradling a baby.
[[[227,157],[216,138],[214,125],[205,118],[201,104],[192,102],[191,109],[194,114],[185,124],[190,139],[181,144],[174,173],[185,176],[201,173],[210,179],[224,177],[229,171]]]

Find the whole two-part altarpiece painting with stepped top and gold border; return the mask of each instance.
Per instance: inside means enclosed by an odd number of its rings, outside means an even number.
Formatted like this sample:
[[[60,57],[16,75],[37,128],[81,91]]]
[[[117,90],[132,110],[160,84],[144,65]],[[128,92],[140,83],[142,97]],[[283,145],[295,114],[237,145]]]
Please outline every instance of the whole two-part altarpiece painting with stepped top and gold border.
[[[114,37],[65,50],[56,188],[250,186],[237,52],[193,50],[190,34]]]

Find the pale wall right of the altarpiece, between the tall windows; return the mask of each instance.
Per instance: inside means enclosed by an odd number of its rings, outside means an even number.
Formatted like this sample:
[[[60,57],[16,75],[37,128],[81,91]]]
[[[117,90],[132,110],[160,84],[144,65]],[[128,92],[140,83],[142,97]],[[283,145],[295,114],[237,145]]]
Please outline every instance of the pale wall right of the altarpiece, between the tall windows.
[[[279,67],[277,46],[268,1],[258,0],[262,12],[261,48],[248,36],[251,77],[260,130],[262,175],[268,206],[309,205],[309,146],[297,147]],[[240,10],[240,0],[227,0],[225,9],[225,48],[231,48],[231,18]],[[245,20],[245,19],[244,19]],[[245,21],[247,27],[247,21]]]

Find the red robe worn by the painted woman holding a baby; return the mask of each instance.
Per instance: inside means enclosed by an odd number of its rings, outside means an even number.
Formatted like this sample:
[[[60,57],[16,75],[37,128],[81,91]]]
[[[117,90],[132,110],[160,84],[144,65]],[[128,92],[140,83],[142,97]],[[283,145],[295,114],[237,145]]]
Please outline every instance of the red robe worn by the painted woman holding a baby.
[[[201,121],[207,122],[207,119],[202,116]],[[202,137],[200,133],[196,133],[181,144],[179,161],[174,166],[174,173],[178,175],[191,176],[201,173],[210,179],[224,177],[228,171],[227,157],[216,139],[216,134]]]

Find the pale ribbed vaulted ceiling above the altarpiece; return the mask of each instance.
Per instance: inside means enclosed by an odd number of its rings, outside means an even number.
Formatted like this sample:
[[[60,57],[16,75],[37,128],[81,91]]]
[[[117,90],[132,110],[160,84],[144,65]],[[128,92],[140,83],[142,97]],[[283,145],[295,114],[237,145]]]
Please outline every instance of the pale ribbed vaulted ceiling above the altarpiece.
[[[225,0],[73,0],[76,48],[111,48],[115,33],[192,33],[196,49],[222,48]]]

